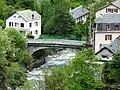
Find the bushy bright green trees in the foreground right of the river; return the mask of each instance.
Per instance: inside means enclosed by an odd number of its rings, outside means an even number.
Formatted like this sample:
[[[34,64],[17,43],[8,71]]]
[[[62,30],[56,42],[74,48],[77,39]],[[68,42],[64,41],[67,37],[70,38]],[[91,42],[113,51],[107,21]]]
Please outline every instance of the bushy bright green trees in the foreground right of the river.
[[[48,90],[95,90],[102,86],[101,68],[94,64],[97,58],[90,49],[80,51],[72,63],[62,68],[53,68],[46,75]]]

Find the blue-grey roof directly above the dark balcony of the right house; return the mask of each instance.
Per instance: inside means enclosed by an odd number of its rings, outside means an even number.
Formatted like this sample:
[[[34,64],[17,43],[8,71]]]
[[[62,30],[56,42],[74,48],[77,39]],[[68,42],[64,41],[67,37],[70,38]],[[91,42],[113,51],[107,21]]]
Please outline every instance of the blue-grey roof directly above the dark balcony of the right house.
[[[96,23],[120,23],[120,14],[104,14],[96,19]]]

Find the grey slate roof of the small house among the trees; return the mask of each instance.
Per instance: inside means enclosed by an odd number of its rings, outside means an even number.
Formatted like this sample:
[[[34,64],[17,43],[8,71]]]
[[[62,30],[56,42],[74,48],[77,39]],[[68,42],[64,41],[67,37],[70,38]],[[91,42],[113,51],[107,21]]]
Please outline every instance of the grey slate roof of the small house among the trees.
[[[85,9],[81,6],[75,8],[73,10],[70,10],[69,12],[73,16],[74,19],[77,19],[77,18],[89,13],[89,11],[87,9]]]

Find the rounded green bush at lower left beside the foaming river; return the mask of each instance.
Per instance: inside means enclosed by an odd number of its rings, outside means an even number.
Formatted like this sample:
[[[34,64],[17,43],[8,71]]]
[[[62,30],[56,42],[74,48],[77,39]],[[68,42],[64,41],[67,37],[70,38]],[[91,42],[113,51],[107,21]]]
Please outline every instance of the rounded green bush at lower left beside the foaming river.
[[[26,70],[18,63],[10,63],[10,67],[7,67],[7,83],[15,90],[17,86],[24,84],[26,80]]]

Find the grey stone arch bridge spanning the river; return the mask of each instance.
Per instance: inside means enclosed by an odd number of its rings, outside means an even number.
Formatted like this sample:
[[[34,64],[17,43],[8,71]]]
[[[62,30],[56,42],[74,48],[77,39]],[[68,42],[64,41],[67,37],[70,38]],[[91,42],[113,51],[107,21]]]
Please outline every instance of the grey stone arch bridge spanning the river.
[[[31,54],[40,49],[50,47],[79,49],[84,47],[84,43],[82,41],[64,39],[28,39],[27,41],[28,51]]]

